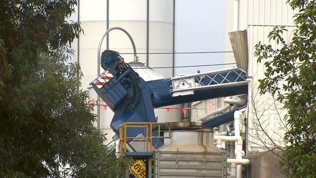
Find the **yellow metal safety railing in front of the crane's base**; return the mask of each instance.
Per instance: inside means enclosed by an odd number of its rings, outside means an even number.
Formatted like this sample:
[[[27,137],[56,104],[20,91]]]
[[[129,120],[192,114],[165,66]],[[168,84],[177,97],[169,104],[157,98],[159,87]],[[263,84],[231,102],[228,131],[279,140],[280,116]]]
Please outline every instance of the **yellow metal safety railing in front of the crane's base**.
[[[144,128],[144,137],[127,137],[127,131],[133,128]],[[128,142],[145,142],[144,152],[152,152],[153,141],[152,123],[124,123],[120,126],[120,155],[127,151]]]

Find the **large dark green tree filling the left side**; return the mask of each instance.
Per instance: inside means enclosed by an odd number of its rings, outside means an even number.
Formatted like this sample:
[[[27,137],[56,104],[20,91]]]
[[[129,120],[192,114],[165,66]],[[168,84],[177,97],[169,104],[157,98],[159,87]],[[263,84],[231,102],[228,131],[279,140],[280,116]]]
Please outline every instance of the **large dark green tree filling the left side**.
[[[108,155],[69,62],[76,3],[0,0],[1,178],[115,178],[126,166]]]

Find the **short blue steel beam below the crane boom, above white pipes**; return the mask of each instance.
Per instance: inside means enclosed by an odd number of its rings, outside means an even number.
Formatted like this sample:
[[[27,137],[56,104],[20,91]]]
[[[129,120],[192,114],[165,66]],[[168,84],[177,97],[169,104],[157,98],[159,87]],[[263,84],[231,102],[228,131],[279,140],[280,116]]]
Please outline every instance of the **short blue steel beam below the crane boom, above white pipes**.
[[[216,116],[214,118],[205,120],[202,122],[202,127],[213,128],[213,127],[223,125],[223,124],[228,123],[228,122],[232,122],[232,121],[234,121],[234,112],[237,110],[243,109],[243,108],[245,108],[245,107],[233,109],[231,111],[228,111],[228,112],[221,114],[219,116]]]

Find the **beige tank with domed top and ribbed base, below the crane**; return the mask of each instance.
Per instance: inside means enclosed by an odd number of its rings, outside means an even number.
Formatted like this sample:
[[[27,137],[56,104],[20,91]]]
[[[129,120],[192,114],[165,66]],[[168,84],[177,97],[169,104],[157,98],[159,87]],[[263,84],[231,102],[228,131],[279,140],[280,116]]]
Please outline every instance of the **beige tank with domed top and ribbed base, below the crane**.
[[[172,130],[155,153],[155,178],[226,178],[225,151],[210,144],[212,134],[211,129]]]

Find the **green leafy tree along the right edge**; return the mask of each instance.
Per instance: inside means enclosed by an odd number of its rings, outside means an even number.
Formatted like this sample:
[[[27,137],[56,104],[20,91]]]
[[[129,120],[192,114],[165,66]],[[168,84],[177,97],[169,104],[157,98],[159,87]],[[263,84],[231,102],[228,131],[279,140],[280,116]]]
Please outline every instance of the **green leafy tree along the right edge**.
[[[257,44],[255,56],[264,62],[265,77],[259,80],[262,94],[270,92],[287,109],[284,119],[286,147],[281,161],[288,178],[316,177],[316,2],[288,0],[298,13],[296,29],[287,43],[285,27],[275,27],[268,35],[278,47]]]

